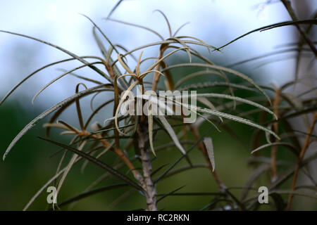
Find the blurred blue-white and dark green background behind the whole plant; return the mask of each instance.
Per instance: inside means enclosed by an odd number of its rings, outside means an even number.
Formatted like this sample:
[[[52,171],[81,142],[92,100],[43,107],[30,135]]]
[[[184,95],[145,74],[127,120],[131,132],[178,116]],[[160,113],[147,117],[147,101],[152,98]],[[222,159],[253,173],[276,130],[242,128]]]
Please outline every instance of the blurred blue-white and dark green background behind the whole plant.
[[[116,1],[113,0],[0,1],[0,30],[37,37],[62,46],[78,56],[100,56],[92,36],[92,24],[78,14],[83,13],[92,18],[111,41],[122,44],[128,49],[151,41],[159,41],[150,32],[104,20],[115,4]],[[317,1],[292,1],[292,6],[299,19],[305,19],[316,11]],[[198,37],[213,46],[221,46],[258,27],[290,20],[290,16],[280,2],[264,0],[126,0],[113,13],[112,18],[151,27],[163,34],[163,37],[168,37],[167,25],[159,13],[154,13],[156,9],[160,9],[167,15],[173,30],[176,30],[183,23],[189,22],[189,25],[180,31],[180,35]],[[313,37],[316,37],[316,31],[312,33]],[[295,27],[280,27],[265,32],[256,32],[225,47],[223,53],[213,52],[211,55],[206,53],[206,56],[219,65],[230,65],[240,60],[275,51],[282,44],[296,42],[298,39],[299,35]],[[0,33],[0,46],[1,97],[37,68],[68,57],[65,53],[50,46],[5,33]],[[206,51],[202,48],[198,50]],[[144,57],[155,56],[156,51],[157,47],[153,47],[147,50]],[[135,55],[137,56],[138,53]],[[188,60],[183,56],[180,55],[173,60]],[[294,78],[294,56],[295,53],[279,54],[256,60],[253,63],[242,64],[235,69],[250,75],[259,84],[281,86]],[[302,64],[305,65],[310,60],[311,58],[307,58],[302,61]],[[75,65],[78,64],[74,62],[64,63],[39,72],[0,106],[0,153],[4,153],[8,144],[27,122],[30,122],[36,115],[54,103],[74,93],[78,80],[72,76],[66,76],[46,89],[37,98],[34,105],[31,103],[32,96],[52,77],[61,73],[56,68],[70,69]],[[305,67],[303,66],[303,68]],[[309,70],[303,69],[301,71],[304,75],[313,75],[316,78],[316,65],[313,65]],[[82,69],[78,72],[79,75],[80,73],[92,72]],[[97,75],[92,73],[91,76],[97,79]],[[297,89],[292,91],[299,93],[313,85],[316,85],[316,81],[312,78],[308,84],[299,84]],[[109,109],[105,110],[104,114],[99,115],[98,118],[101,121],[103,118],[111,116]],[[89,110],[89,105],[85,110]],[[73,112],[68,110],[63,113],[62,118],[70,124],[76,125],[77,121]],[[251,150],[248,140],[252,130],[235,123],[232,123],[232,127],[239,132],[245,142],[241,143],[225,132],[212,131],[210,135],[213,136],[215,144],[218,174],[223,182],[227,186],[243,186],[251,172],[251,168],[247,167],[247,160]],[[57,149],[36,138],[44,136],[43,131],[41,124],[38,124],[23,139],[18,141],[6,161],[0,162],[0,210],[22,210],[32,195],[56,171],[58,158],[50,158],[50,155]],[[67,141],[67,139],[56,135],[57,138],[61,141]],[[178,157],[178,152],[175,149],[166,150],[160,155],[159,160],[154,162],[154,167],[158,167],[164,162],[168,163],[170,158],[176,159]],[[287,156],[282,155],[281,157],[286,158]],[[204,160],[199,153],[193,153],[193,158],[197,162]],[[105,160],[113,162],[111,157]],[[65,199],[81,193],[102,173],[99,168],[89,165],[85,172],[80,174],[80,166],[76,165],[70,171],[58,198]],[[316,177],[316,173],[314,175]],[[113,181],[115,179],[109,178],[102,185],[111,184]],[[180,184],[187,185],[184,188],[186,192],[216,191],[216,184],[211,179],[209,171],[207,169],[194,169],[175,176],[173,179],[166,179],[158,186],[159,193],[172,191]],[[127,194],[127,198],[122,198],[120,202],[116,201],[118,196],[126,193],[127,190],[121,188],[118,191],[94,195],[92,198],[81,200],[72,209],[130,210],[137,209],[144,204],[138,193],[132,193],[130,196]],[[237,191],[237,193],[239,192]],[[30,207],[30,210],[45,210],[46,195],[46,192],[42,193]],[[159,207],[165,210],[199,210],[200,207],[209,203],[211,198],[206,198],[206,196],[175,196],[162,200]],[[306,199],[304,203],[299,201],[297,205],[300,210],[317,209],[316,203],[309,199]]]

